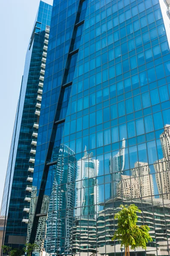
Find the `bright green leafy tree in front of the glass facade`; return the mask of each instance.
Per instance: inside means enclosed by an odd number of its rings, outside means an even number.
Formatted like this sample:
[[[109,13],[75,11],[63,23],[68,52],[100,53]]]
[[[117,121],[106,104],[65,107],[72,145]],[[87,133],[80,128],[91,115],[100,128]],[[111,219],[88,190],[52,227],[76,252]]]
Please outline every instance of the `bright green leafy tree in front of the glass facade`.
[[[137,226],[137,212],[141,212],[135,204],[121,205],[120,212],[115,214],[118,220],[118,229],[115,230],[112,240],[121,241],[121,247],[125,247],[125,256],[130,256],[129,247],[132,249],[142,247],[146,249],[148,241],[152,241],[150,237],[150,228],[147,225]]]

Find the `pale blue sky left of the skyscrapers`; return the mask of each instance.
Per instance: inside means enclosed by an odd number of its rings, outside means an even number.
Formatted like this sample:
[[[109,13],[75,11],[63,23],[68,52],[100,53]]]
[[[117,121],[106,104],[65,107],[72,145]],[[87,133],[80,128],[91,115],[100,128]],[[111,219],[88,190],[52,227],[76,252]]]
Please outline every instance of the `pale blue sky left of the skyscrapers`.
[[[26,50],[40,0],[0,0],[0,205]],[[44,2],[52,5],[53,0]]]

